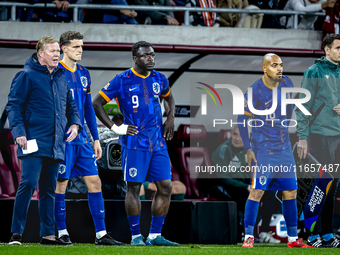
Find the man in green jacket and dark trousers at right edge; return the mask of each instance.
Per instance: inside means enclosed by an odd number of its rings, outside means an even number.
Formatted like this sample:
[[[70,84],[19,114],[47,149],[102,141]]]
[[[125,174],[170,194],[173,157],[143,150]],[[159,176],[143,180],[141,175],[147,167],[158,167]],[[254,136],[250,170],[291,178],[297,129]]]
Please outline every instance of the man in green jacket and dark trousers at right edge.
[[[303,106],[312,114],[304,115],[296,109],[298,156],[306,158],[307,148],[335,177],[328,191],[308,245],[340,248],[340,240],[333,236],[334,202],[339,185],[335,163],[339,163],[340,149],[340,35],[328,34],[322,43],[325,57],[318,59],[304,73],[301,88],[309,90],[311,98]],[[300,94],[300,97],[304,95]],[[320,111],[321,110],[321,111]],[[316,116],[316,113],[319,114]],[[314,122],[310,121],[314,118]],[[308,144],[307,144],[308,140]],[[334,165],[333,165],[334,164]],[[334,171],[332,168],[334,167]]]

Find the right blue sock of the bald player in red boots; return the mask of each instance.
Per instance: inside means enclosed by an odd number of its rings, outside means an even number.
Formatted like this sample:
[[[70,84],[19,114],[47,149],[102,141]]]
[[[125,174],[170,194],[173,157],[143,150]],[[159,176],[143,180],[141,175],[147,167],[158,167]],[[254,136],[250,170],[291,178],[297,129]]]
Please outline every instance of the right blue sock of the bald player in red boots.
[[[296,199],[282,200],[282,214],[286,221],[288,236],[297,237]]]

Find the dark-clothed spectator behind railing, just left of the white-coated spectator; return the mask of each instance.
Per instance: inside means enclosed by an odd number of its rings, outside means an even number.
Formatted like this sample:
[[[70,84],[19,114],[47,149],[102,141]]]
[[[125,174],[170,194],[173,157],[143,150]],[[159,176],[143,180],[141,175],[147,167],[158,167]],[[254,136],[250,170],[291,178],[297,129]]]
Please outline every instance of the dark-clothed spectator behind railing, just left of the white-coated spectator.
[[[249,4],[255,5],[260,9],[282,10],[282,3],[284,0],[249,0]],[[295,0],[294,0],[295,1]],[[280,22],[280,15],[264,15],[262,21],[262,28],[284,28]]]

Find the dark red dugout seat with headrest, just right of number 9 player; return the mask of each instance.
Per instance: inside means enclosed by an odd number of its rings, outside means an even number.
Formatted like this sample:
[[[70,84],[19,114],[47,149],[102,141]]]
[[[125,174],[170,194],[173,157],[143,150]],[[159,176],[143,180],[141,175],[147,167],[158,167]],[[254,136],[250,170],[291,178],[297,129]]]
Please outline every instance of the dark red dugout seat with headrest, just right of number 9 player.
[[[186,195],[189,199],[207,200],[206,194],[198,188],[198,179],[208,179],[209,173],[197,171],[198,168],[211,166],[208,149],[198,146],[206,136],[207,132],[203,125],[180,125],[177,130],[177,139],[183,144],[190,141],[192,145],[197,145],[178,148],[181,171],[187,188]]]

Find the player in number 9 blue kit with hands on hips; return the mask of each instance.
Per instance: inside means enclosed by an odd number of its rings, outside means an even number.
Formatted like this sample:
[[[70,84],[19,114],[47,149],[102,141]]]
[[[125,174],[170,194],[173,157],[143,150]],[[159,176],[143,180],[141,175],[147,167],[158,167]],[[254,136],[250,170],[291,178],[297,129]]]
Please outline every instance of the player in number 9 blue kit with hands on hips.
[[[132,234],[131,245],[178,246],[161,236],[172,189],[166,140],[173,137],[175,100],[167,78],[153,70],[155,52],[152,45],[137,42],[132,48],[132,57],[134,67],[113,78],[95,97],[93,106],[101,122],[121,135],[123,175],[128,187],[125,209]],[[169,104],[164,125],[160,97]],[[120,126],[112,122],[103,108],[113,98],[124,116],[124,124]],[[140,233],[139,192],[146,180],[155,182],[157,193],[151,206],[150,233],[144,243]]]

